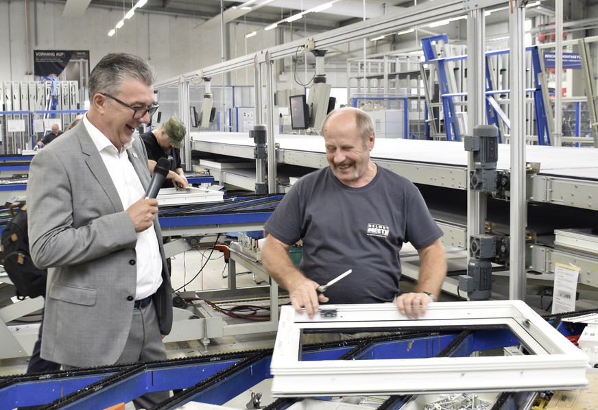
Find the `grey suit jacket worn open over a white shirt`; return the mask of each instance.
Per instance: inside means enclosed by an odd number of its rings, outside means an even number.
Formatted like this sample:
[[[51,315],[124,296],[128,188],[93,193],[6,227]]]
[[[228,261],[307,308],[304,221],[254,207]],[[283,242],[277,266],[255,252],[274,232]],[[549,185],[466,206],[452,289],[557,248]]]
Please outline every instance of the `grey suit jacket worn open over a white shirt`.
[[[143,188],[147,154],[128,156]],[[83,121],[31,162],[27,215],[32,258],[49,268],[41,356],[64,365],[115,363],[127,340],[136,292],[136,233]],[[163,284],[154,296],[160,332],[172,326],[172,289],[157,217]]]

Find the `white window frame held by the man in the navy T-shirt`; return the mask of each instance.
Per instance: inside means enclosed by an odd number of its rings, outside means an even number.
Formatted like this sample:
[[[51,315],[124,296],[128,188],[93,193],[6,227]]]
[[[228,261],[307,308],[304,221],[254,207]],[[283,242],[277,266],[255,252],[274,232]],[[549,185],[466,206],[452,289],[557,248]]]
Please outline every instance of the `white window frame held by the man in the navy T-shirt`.
[[[309,319],[292,306],[280,313],[270,372],[272,395],[357,396],[457,391],[586,389],[588,357],[521,300],[437,302],[424,317],[407,319],[394,304],[329,305],[336,317]],[[509,328],[529,354],[424,359],[300,361],[302,330],[350,328]]]

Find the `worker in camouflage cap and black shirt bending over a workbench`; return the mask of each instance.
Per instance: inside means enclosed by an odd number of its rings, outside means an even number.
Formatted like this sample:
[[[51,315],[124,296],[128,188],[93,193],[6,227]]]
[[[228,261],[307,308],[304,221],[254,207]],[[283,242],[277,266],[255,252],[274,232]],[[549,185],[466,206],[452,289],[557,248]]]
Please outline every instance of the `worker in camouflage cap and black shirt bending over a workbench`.
[[[167,158],[170,161],[170,171],[162,188],[185,189],[189,186],[180,163],[180,148],[184,145],[185,134],[187,128],[177,117],[170,117],[160,128],[141,134],[152,174],[160,158]]]

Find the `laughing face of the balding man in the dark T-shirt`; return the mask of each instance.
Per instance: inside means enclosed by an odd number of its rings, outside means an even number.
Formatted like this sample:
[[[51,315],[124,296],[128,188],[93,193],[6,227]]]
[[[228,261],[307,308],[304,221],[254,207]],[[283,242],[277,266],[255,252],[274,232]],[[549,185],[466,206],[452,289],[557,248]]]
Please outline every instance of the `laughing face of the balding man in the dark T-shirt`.
[[[339,110],[333,114],[324,124],[323,134],[326,159],[340,182],[358,188],[374,178],[376,165],[370,160],[374,133],[364,141],[359,134],[355,112]]]

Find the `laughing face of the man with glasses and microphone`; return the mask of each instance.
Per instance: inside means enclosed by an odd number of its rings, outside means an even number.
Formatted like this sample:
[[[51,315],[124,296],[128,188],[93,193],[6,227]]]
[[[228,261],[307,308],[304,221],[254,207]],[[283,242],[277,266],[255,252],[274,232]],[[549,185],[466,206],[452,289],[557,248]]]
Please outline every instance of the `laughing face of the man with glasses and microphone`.
[[[130,79],[123,82],[121,91],[113,97],[134,108],[147,108],[154,103],[154,87]],[[132,140],[136,128],[142,123],[150,122],[147,112],[141,119],[133,119],[133,110],[106,95],[97,93],[93,97],[93,103],[88,118],[119,150]]]

